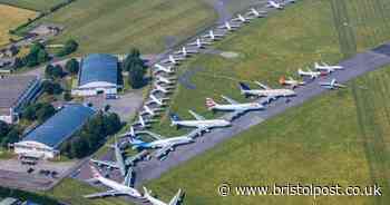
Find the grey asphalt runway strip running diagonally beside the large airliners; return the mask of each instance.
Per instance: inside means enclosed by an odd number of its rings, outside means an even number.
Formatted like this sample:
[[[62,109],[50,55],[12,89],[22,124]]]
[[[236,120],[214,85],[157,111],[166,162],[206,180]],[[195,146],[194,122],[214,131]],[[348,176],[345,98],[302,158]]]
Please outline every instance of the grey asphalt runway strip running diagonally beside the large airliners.
[[[373,49],[359,53],[353,58],[341,61],[340,65],[345,68],[344,70],[335,71],[328,77],[319,78],[304,87],[295,89],[298,96],[291,98],[292,100],[290,102],[286,102],[285,99],[281,98],[270,104],[265,110],[247,113],[233,121],[232,127],[214,129],[212,133],[205,134],[201,138],[197,138],[197,141],[194,144],[177,147],[176,150],[170,153],[169,156],[163,162],[152,159],[149,162],[138,163],[138,166],[135,169],[137,173],[136,185],[139,186],[146,180],[158,178],[169,169],[215,147],[217,144],[230,139],[233,136],[238,136],[240,133],[261,124],[265,119],[274,117],[289,108],[302,105],[304,101],[321,95],[322,92],[326,91],[326,89],[320,87],[319,81],[337,78],[339,82],[345,82],[368,71],[373,71],[389,65],[390,43],[379,48],[380,49]]]

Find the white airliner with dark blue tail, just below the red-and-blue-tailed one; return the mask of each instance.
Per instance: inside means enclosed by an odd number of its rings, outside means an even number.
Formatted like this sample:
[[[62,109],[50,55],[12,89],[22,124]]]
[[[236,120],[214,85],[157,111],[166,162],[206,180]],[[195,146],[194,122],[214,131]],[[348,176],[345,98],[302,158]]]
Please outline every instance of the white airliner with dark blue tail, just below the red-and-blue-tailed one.
[[[181,126],[196,127],[199,128],[199,131],[209,131],[211,128],[231,126],[231,123],[225,119],[206,119],[205,117],[195,114],[193,110],[188,111],[192,116],[194,116],[194,120],[182,120],[177,115],[172,114],[170,126],[177,126],[177,128],[179,128]]]

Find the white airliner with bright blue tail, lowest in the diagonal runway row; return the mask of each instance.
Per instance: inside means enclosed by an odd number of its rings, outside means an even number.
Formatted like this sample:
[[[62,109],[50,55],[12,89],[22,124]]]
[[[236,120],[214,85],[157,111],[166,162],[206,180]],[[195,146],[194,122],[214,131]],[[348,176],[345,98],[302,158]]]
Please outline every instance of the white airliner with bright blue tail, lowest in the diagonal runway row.
[[[194,139],[187,136],[167,138],[152,131],[140,133],[152,136],[153,138],[155,138],[155,140],[150,143],[145,143],[138,138],[130,137],[130,144],[133,146],[133,149],[158,149],[154,153],[156,158],[162,158],[166,156],[169,152],[174,152],[175,147],[179,145],[194,143]]]

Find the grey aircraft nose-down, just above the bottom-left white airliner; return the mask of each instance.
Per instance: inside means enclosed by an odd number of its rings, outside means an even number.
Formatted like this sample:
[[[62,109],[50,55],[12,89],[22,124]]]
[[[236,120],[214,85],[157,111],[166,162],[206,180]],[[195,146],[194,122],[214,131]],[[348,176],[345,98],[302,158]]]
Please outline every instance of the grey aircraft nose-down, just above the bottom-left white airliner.
[[[115,158],[116,162],[110,160],[98,160],[98,159],[90,159],[90,162],[95,163],[98,166],[107,166],[108,168],[117,168],[120,170],[121,176],[126,176],[126,164],[123,156],[123,152],[120,150],[120,147],[115,139],[115,144],[110,146],[115,150]]]

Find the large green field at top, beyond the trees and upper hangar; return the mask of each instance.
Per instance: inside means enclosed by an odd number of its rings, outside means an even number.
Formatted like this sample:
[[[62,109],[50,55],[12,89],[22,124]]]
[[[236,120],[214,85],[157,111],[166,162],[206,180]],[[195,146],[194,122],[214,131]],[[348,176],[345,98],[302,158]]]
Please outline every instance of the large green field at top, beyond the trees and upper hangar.
[[[78,0],[39,22],[65,26],[56,41],[75,38],[79,53],[163,51],[214,22],[202,0]]]

